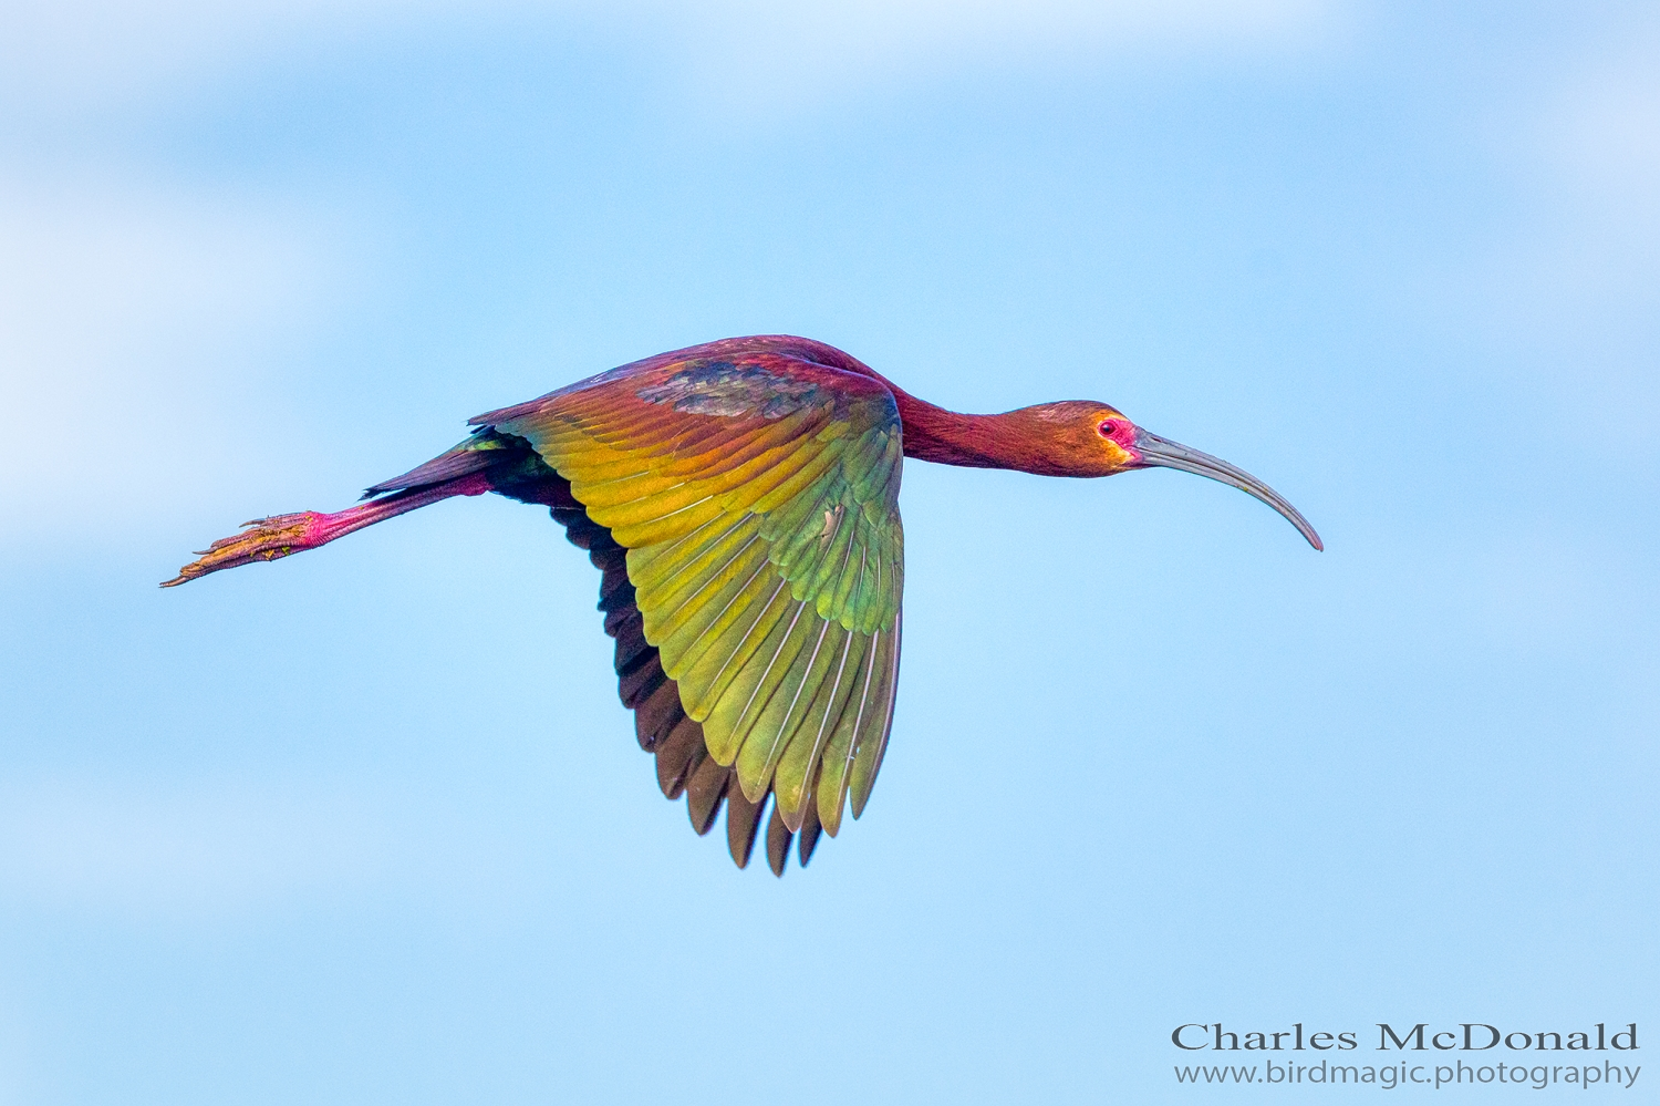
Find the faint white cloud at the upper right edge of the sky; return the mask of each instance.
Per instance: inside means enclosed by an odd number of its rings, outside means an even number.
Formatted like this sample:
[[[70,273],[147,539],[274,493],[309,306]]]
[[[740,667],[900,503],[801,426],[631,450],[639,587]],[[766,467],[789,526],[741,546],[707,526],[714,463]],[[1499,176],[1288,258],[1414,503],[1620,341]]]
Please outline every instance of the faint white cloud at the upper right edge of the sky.
[[[1647,455],[1660,395],[1630,350],[1660,309],[1660,23],[1618,30],[1499,90],[1516,214],[1433,291],[1484,340],[1550,362],[1539,387]]]

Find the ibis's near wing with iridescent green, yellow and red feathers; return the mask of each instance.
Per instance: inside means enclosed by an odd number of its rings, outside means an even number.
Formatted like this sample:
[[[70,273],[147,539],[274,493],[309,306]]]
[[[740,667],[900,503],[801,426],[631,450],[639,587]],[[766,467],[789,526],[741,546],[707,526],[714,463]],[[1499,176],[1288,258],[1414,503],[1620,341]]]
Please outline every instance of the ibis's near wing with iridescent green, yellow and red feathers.
[[[886,387],[760,355],[606,374],[501,414],[485,418],[627,550],[646,641],[744,800],[770,789],[790,832],[835,835],[848,799],[858,817],[900,661],[903,450]]]

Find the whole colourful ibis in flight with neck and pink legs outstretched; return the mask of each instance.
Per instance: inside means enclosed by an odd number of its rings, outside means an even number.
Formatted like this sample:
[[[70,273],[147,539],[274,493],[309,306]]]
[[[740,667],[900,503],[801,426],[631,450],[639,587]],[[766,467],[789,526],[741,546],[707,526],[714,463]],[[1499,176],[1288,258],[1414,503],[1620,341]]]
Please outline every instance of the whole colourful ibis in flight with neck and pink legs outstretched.
[[[471,420],[465,442],[332,515],[246,523],[166,581],[274,561],[455,495],[551,508],[601,571],[622,704],[669,799],[706,834],[722,804],[749,864],[805,865],[870,799],[900,676],[903,458],[1111,477],[1180,468],[1248,492],[1316,550],[1250,473],[1092,400],[961,415],[800,337],[707,342]]]

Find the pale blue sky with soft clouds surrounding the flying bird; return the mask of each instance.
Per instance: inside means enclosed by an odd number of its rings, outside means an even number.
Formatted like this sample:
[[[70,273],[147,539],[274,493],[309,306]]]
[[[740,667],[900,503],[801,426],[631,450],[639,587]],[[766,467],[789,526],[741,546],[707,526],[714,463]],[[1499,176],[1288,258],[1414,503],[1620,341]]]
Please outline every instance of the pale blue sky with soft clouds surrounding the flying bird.
[[[1652,1021],[1657,56],[1642,3],[7,10],[0,1101],[1194,1101],[1187,1021]],[[1328,551],[906,467],[893,744],[782,882],[657,795],[541,511],[154,588],[752,332],[1104,399]]]

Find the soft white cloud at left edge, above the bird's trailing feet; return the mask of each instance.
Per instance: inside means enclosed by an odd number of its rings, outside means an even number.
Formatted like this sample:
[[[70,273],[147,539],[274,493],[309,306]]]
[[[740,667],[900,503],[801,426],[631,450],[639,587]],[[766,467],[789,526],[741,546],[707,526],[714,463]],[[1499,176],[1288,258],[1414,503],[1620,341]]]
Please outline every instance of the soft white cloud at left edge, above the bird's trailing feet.
[[[317,234],[201,189],[0,176],[3,531],[129,526],[184,495],[277,332],[332,291]]]

